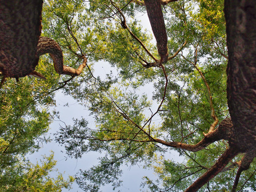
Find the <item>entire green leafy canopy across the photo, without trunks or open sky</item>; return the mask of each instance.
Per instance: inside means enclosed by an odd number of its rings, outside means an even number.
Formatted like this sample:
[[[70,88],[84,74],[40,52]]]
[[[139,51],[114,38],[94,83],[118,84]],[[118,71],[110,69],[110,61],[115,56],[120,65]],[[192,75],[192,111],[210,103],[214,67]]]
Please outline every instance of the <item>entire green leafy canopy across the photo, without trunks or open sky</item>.
[[[185,190],[223,154],[226,141],[214,142],[197,153],[174,149],[185,158],[184,162],[178,163],[165,158],[165,152],[170,148],[154,142],[154,139],[162,139],[196,144],[213,123],[209,93],[195,65],[210,87],[219,121],[229,116],[223,1],[182,0],[163,7],[170,56],[186,42],[185,47],[164,65],[166,74],[162,68],[143,67],[142,63],[154,60],[141,44],[159,59],[155,38],[151,29],[143,29],[144,23],[139,22],[138,12],[146,14],[145,6],[129,2],[44,2],[43,35],[61,45],[65,65],[76,68],[81,62],[78,55],[84,54],[88,58],[87,68],[79,77],[58,85],[69,77],[58,77],[50,65],[51,60],[44,56],[37,70],[47,78],[46,81],[26,77],[19,83],[11,80],[4,85],[0,102],[0,151],[5,154],[0,157],[2,167],[15,165],[18,171],[21,165],[16,164],[20,160],[15,155],[22,156],[39,148],[37,141],[41,140],[38,138],[47,131],[52,118],[47,111],[48,106],[54,105],[52,91],[61,85],[65,85],[62,91],[90,110],[95,120],[95,127],[89,128],[86,117],[74,119],[73,125],[60,127],[56,135],[56,140],[65,146],[70,157],[81,158],[90,151],[102,154],[98,165],[76,175],[78,185],[85,191],[99,191],[101,185],[109,182],[116,189],[122,184],[122,165],[137,163],[151,167],[158,175],[156,181],[145,177],[142,187],[147,187],[147,191]],[[120,10],[131,32],[122,25]],[[94,76],[97,65],[102,62],[108,62],[115,70],[103,80]],[[143,86],[147,87],[146,92],[153,93],[152,98],[141,91],[145,90]],[[240,159],[238,156],[234,161]],[[52,169],[50,164],[47,169]],[[236,169],[233,167],[220,173],[201,191],[206,188],[230,190]],[[253,169],[255,162],[251,170],[242,174],[238,187],[251,177]],[[41,179],[40,174],[46,173],[37,174],[39,186],[47,187],[48,181],[50,186],[57,186],[52,184],[55,181],[51,178]],[[24,170],[22,175],[32,177]],[[20,178],[21,183],[28,182],[23,176]],[[61,178],[57,182],[57,187],[68,187],[67,181]],[[255,174],[245,187],[256,190]]]

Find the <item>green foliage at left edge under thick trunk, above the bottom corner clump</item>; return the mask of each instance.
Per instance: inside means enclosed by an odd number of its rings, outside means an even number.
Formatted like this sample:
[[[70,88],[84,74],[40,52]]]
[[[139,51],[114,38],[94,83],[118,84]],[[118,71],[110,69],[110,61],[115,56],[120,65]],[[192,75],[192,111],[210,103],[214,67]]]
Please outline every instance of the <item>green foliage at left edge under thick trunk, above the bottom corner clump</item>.
[[[39,149],[42,138],[51,123],[52,116],[46,108],[54,104],[53,94],[47,93],[51,81],[21,78],[17,83],[8,80],[0,94],[0,143],[1,167],[11,165],[15,155],[25,155]]]

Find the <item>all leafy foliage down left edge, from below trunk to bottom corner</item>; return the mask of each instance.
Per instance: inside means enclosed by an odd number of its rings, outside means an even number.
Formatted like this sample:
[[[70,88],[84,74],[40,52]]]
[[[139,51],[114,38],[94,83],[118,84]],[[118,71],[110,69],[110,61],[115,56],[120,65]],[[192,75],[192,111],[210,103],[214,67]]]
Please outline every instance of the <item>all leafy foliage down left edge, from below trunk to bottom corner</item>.
[[[58,89],[54,69],[47,67],[45,60],[37,68],[47,68],[47,81],[34,77],[19,82],[11,79],[0,90],[0,191],[61,191],[70,189],[74,181],[72,177],[64,180],[60,173],[57,178],[49,176],[56,164],[53,154],[44,157],[42,165],[34,165],[26,158],[50,142],[46,133],[54,115],[49,107],[54,106],[53,91]]]

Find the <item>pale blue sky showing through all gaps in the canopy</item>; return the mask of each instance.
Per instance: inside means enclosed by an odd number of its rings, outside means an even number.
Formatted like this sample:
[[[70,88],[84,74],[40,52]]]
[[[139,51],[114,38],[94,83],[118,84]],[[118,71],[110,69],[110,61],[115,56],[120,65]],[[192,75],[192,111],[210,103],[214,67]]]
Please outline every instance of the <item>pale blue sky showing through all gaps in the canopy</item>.
[[[147,18],[147,14],[138,13],[136,19],[142,21],[144,29],[148,29],[149,31],[151,31],[151,26]],[[99,62],[97,63],[97,65],[95,65],[94,76],[100,76],[101,78],[104,78],[110,70],[115,71],[113,68],[111,69],[108,63]],[[147,85],[145,87],[142,87],[142,89],[140,90],[141,93],[147,93],[148,98],[152,98],[153,93],[151,91],[153,89],[150,89],[151,86],[152,85]],[[56,107],[54,107],[54,109],[60,112],[61,121],[65,122],[67,125],[72,125],[73,118],[84,117],[87,121],[89,121],[90,128],[95,127],[93,118],[89,115],[89,111],[87,111],[83,106],[79,105],[79,103],[73,98],[64,95],[61,91],[58,91],[55,95],[55,100]],[[66,103],[68,103],[68,107],[66,106]],[[157,116],[154,117],[154,119],[156,123],[157,121],[159,121],[159,118]],[[49,135],[51,139],[53,139],[53,141],[44,144],[43,147],[38,150],[38,152],[28,155],[27,157],[29,158],[29,160],[32,163],[36,163],[37,161],[39,162],[39,160],[42,159],[43,155],[49,156],[51,154],[51,151],[54,151],[54,160],[57,161],[57,165],[55,166],[55,168],[57,168],[60,173],[63,173],[65,179],[68,178],[68,175],[75,175],[79,171],[79,169],[87,170],[90,169],[90,167],[92,167],[93,165],[97,165],[98,157],[101,155],[95,152],[84,154],[81,159],[67,157],[67,155],[65,154],[65,149],[54,141],[53,134],[59,130],[60,125],[65,126],[62,122],[58,121],[58,119],[55,119],[53,121],[53,123],[50,125],[50,131],[49,133],[47,133],[47,135]],[[183,161],[183,158],[179,157],[178,153],[173,150],[170,150],[170,153],[166,154],[166,158],[173,159],[174,161],[178,162]],[[121,178],[123,180],[123,185],[117,188],[117,190],[121,190],[123,192],[140,191],[140,184],[143,181],[143,176],[147,175],[150,179],[156,179],[156,175],[154,174],[153,170],[142,169],[142,166],[142,164],[130,167],[123,166],[123,176]],[[54,175],[56,175],[56,172],[52,173],[52,176]],[[101,190],[113,191],[111,185],[102,187]],[[68,190],[63,189],[63,191],[65,192]],[[81,192],[83,190],[80,189],[76,183],[74,183],[73,189],[71,189],[70,191]]]

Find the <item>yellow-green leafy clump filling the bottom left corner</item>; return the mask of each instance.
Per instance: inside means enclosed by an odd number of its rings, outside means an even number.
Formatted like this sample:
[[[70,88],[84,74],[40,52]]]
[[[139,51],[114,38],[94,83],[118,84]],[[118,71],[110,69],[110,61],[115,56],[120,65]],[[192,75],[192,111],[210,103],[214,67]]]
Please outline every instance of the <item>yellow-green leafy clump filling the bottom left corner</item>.
[[[63,179],[62,174],[57,178],[51,178],[49,173],[57,161],[53,160],[53,153],[44,157],[40,164],[32,164],[25,159],[14,164],[0,175],[1,191],[62,191],[62,188],[70,189],[74,178]]]

